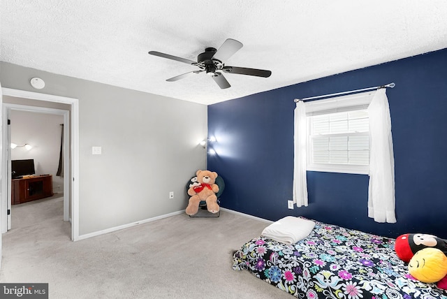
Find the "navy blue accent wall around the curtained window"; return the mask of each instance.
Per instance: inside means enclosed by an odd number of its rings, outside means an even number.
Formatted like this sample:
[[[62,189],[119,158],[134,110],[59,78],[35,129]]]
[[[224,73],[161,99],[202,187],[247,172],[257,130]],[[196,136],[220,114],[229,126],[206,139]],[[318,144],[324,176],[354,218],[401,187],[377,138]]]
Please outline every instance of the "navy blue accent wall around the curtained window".
[[[268,80],[268,79],[258,79]],[[307,172],[309,206],[288,210],[295,98],[395,82],[387,89],[395,153],[396,224],[367,217],[367,175]],[[304,216],[397,237],[447,238],[447,49],[208,106],[207,168],[226,182],[221,206],[276,221]]]

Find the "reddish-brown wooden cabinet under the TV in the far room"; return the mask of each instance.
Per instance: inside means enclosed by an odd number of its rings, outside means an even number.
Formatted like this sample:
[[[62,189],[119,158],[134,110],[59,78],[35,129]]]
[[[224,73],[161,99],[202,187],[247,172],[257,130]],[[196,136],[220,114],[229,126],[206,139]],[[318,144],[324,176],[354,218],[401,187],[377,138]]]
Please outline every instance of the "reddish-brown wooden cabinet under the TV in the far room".
[[[53,196],[53,177],[34,175],[12,180],[11,196],[13,205]]]

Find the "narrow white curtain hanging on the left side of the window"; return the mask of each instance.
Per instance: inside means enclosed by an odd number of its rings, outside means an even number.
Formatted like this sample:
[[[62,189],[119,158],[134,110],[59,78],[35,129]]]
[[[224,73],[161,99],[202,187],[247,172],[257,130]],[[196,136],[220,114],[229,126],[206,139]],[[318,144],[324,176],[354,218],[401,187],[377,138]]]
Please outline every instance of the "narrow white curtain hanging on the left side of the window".
[[[307,207],[307,178],[306,178],[306,108],[303,101],[298,101],[295,108],[294,128],[294,156],[293,156],[293,203],[297,207]]]

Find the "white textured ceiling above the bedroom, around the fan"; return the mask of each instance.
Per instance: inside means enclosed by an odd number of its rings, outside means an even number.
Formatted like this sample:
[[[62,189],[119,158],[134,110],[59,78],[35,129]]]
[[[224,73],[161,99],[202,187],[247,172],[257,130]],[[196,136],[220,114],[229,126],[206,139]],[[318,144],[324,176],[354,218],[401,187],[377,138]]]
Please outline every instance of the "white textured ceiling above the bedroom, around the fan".
[[[1,61],[204,104],[447,48],[446,0],[0,1]],[[196,60],[226,38],[244,47],[224,63],[270,78],[166,82],[196,68],[147,54]]]

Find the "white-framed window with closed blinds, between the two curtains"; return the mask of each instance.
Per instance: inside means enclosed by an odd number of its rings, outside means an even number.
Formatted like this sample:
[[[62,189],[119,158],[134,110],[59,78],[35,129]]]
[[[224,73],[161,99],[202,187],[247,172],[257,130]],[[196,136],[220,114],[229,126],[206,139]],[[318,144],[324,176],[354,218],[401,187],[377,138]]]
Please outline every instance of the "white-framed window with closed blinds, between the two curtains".
[[[369,117],[374,92],[306,103],[307,170],[369,172]]]

